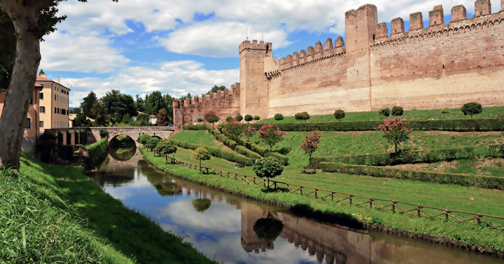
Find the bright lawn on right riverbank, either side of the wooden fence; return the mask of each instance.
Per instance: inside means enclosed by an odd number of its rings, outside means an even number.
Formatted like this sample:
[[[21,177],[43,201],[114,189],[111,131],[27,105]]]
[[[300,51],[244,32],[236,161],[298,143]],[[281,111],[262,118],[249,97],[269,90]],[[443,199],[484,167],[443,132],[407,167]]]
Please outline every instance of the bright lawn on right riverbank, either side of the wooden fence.
[[[175,157],[177,159],[183,158],[187,153],[184,153],[186,150],[177,151]],[[331,201],[324,201],[322,199],[314,199],[312,197],[301,196],[299,194],[291,194],[291,193],[282,193],[282,192],[271,192],[269,190],[265,190],[264,188],[257,185],[250,185],[244,182],[240,182],[237,180],[232,180],[228,178],[221,178],[213,175],[200,175],[197,171],[193,171],[181,166],[176,166],[172,164],[166,164],[165,159],[163,157],[154,157],[153,153],[142,149],[145,158],[156,166],[167,170],[170,173],[176,175],[182,175],[183,177],[187,177],[190,179],[194,179],[200,182],[205,182],[212,184],[214,186],[224,187],[231,191],[240,192],[245,195],[250,195],[257,197],[259,199],[266,199],[275,202],[285,203],[292,206],[309,208],[313,212],[324,213],[335,218],[345,218],[351,221],[360,221],[365,223],[372,223],[377,225],[386,225],[394,228],[401,228],[404,230],[409,230],[413,232],[419,233],[428,233],[433,235],[438,235],[442,237],[455,238],[458,241],[466,244],[480,244],[480,245],[488,245],[494,247],[496,249],[504,249],[504,235],[502,232],[491,230],[487,227],[477,226],[475,223],[469,223],[468,225],[463,225],[460,223],[444,222],[444,221],[432,221],[426,218],[409,218],[400,214],[391,214],[389,212],[381,212],[376,209],[369,209],[357,206],[346,206],[341,203],[333,203]],[[207,161],[204,166],[211,167]],[[233,168],[229,168],[233,169]],[[248,168],[245,168],[248,169]],[[245,173],[241,169],[235,168],[234,170],[240,170],[240,173],[253,175],[249,173]],[[231,171],[231,170],[230,170]],[[238,171],[237,171],[238,172]],[[478,190],[475,188],[466,188],[461,186],[452,186],[452,185],[435,185],[429,183],[418,183],[411,181],[401,181],[401,180],[386,180],[386,179],[375,179],[361,176],[350,176],[343,174],[324,174],[322,177],[321,174],[317,174],[317,180],[313,181],[308,177],[310,176],[299,176],[298,181],[302,182],[302,184],[313,186],[319,185],[323,188],[327,183],[331,182],[332,187],[339,186],[344,187],[345,190],[351,190],[356,194],[365,194],[363,191],[372,191],[375,190],[375,193],[369,194],[379,195],[386,194],[391,195],[394,194],[399,198],[410,200],[415,200],[418,203],[425,202],[428,204],[429,201],[436,201],[443,203],[448,202],[448,205],[464,205],[468,204],[469,195],[477,195],[477,199],[486,199],[484,202],[486,209],[501,215],[499,213],[502,212],[502,209],[499,208],[498,200],[502,200],[501,196],[493,196],[489,195],[490,193],[485,193],[486,191],[495,192],[494,190]],[[302,179],[304,178],[304,180]],[[333,179],[334,178],[334,179]],[[284,179],[279,179],[281,181],[286,181]],[[288,182],[291,180],[295,180],[294,178],[289,178]],[[304,182],[303,182],[304,181]],[[349,186],[349,182],[352,182],[351,186]],[[436,186],[438,189],[432,190]],[[334,189],[334,188],[333,188]],[[442,194],[437,193],[438,190],[443,190]],[[360,191],[359,191],[360,190]],[[454,193],[455,192],[455,193]],[[451,193],[451,194],[450,194]],[[480,193],[480,194],[478,194]],[[445,197],[445,194],[450,194],[449,197]],[[439,199],[439,197],[443,197]],[[390,199],[395,199],[393,197],[385,197]],[[399,200],[399,199],[398,199]],[[476,198],[475,198],[476,200]],[[469,200],[471,201],[471,200]],[[483,204],[479,206],[483,208]],[[498,212],[496,211],[498,210]]]

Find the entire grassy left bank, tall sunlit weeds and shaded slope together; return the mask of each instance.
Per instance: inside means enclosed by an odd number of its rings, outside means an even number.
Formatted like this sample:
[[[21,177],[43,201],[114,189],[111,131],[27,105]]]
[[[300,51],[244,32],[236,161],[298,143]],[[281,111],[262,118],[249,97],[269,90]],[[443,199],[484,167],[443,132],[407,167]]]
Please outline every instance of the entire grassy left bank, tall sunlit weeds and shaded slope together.
[[[0,253],[6,261],[18,255],[14,263],[212,262],[124,207],[79,167],[47,165],[23,155],[19,178],[0,180],[0,223],[10,249],[0,247]]]

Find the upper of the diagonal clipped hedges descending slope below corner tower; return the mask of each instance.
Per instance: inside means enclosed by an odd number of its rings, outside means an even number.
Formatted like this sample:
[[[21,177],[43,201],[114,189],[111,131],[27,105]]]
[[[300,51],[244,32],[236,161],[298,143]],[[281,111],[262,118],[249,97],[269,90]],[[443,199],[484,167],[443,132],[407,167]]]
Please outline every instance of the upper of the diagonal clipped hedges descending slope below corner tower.
[[[286,156],[286,155],[282,155],[282,154],[280,154],[278,152],[272,152],[272,151],[270,151],[269,149],[267,149],[265,147],[262,147],[262,146],[260,146],[258,144],[254,144],[254,143],[252,143],[250,141],[243,140],[241,138],[239,138],[238,141],[234,141],[234,140],[229,139],[224,134],[222,134],[222,127],[219,127],[218,130],[217,129],[212,129],[212,130],[210,130],[210,132],[212,133],[212,135],[215,136],[215,138],[217,140],[221,141],[222,143],[224,143],[224,145],[230,147],[231,149],[234,149],[234,151],[236,151],[236,152],[238,152],[238,150],[235,149],[236,146],[234,146],[234,148],[230,146],[233,143],[237,144],[238,146],[242,146],[245,149],[249,150],[250,151],[249,154],[248,155],[245,154],[248,157],[253,157],[254,154],[256,154],[256,155],[259,154],[258,157],[256,157],[255,159],[260,159],[261,156],[274,156],[277,159],[279,159],[280,162],[282,162],[284,166],[287,166],[289,164],[289,157]],[[232,142],[228,142],[229,145],[227,145],[226,139],[230,140]],[[242,151],[245,151],[245,150],[242,150]],[[238,152],[238,153],[240,153],[240,152]],[[252,153],[254,153],[254,154],[252,154]]]

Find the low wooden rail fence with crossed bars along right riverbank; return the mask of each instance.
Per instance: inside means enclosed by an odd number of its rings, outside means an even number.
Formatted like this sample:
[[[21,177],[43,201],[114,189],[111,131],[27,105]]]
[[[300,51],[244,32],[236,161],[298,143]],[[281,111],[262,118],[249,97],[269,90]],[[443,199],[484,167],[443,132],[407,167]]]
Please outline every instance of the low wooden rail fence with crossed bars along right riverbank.
[[[206,174],[213,174],[223,178],[231,178],[239,181],[244,181],[249,184],[260,185],[263,187],[273,188],[283,192],[299,193],[314,197],[316,199],[331,200],[336,203],[343,203],[348,206],[360,206],[376,208],[384,212],[391,212],[392,214],[403,214],[411,218],[429,218],[432,220],[444,220],[446,222],[452,220],[457,223],[469,225],[476,222],[477,225],[485,223],[489,228],[496,229],[504,232],[504,217],[491,216],[486,214],[478,214],[471,212],[464,212],[461,210],[437,208],[432,206],[425,206],[421,204],[414,204],[403,201],[396,201],[390,199],[372,198],[362,195],[356,195],[345,192],[338,192],[332,190],[325,190],[315,187],[303,186],[298,184],[279,182],[265,178],[243,175],[239,173],[226,172],[213,168],[200,167],[198,165],[188,164],[168,157],[168,160],[174,164],[181,165],[193,170],[201,170]],[[269,184],[268,184],[269,183]],[[442,198],[442,197],[440,197]],[[469,224],[468,224],[469,223]]]

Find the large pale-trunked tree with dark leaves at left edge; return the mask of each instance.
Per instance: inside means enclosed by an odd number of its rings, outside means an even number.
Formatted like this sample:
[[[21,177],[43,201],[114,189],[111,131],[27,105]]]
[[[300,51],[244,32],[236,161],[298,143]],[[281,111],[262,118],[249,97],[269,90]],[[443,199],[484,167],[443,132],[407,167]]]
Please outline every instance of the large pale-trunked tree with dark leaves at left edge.
[[[0,166],[19,168],[24,120],[41,59],[40,41],[66,18],[56,16],[61,1],[0,0],[0,88],[7,87],[0,117]]]

